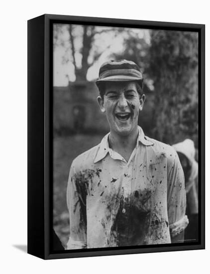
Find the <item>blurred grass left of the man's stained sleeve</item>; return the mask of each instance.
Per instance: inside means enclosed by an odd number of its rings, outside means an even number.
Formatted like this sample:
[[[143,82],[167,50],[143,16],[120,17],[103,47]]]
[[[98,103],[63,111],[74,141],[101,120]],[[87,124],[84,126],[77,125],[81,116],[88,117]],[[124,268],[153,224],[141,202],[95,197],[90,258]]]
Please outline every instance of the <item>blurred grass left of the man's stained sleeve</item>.
[[[56,136],[53,141],[53,227],[64,246],[69,238],[66,188],[72,161],[101,142],[103,135]]]

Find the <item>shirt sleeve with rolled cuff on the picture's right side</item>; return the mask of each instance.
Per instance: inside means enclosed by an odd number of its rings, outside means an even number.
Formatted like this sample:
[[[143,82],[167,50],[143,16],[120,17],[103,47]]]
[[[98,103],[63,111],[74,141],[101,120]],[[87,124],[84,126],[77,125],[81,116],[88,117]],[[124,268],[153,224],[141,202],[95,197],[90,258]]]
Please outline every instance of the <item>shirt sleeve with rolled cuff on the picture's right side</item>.
[[[184,232],[189,221],[185,215],[186,191],[184,172],[177,155],[173,149],[168,159],[168,219],[171,238]],[[184,233],[183,233],[184,236]]]

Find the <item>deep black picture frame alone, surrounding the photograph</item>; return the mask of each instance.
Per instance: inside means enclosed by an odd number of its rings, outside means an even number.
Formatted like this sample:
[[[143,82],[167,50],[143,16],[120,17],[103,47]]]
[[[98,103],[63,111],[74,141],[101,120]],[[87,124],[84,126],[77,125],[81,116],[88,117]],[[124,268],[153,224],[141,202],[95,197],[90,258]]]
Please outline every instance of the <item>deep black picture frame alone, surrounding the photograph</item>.
[[[52,24],[55,22],[198,32],[200,239],[197,244],[52,250]],[[28,20],[28,253],[46,260],[198,249],[205,249],[205,25],[53,14]]]

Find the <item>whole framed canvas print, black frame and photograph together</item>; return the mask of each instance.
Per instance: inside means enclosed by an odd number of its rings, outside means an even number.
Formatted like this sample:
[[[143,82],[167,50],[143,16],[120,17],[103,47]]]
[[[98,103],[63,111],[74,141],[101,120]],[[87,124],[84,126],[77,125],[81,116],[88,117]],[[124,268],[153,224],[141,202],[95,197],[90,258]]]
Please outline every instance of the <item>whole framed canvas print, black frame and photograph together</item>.
[[[28,21],[28,253],[205,248],[205,25]]]

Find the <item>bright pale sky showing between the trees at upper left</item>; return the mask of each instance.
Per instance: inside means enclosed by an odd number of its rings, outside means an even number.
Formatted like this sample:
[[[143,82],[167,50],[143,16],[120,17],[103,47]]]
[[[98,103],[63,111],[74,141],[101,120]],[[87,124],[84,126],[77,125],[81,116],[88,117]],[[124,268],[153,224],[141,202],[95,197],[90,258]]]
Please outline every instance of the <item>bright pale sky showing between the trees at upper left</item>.
[[[69,81],[75,81],[74,65],[72,63],[71,55],[71,43],[69,35],[69,25],[59,24],[60,30],[57,33],[57,40],[54,40],[54,50],[53,50],[53,85],[54,86],[67,86]],[[97,26],[97,31],[101,32],[107,30],[110,27],[99,27]],[[74,46],[75,46],[75,60],[77,66],[81,65],[82,55],[80,53],[82,45],[82,34],[83,28],[81,25],[74,25]],[[107,60],[110,59],[112,53],[123,52],[124,38],[128,37],[127,30],[125,28],[121,29],[118,35],[115,35],[113,31],[105,31],[101,34],[96,34],[95,42],[93,44],[92,50],[90,52],[89,60],[93,59],[94,52],[100,52],[101,56],[88,70],[87,80],[92,81],[98,78],[98,72],[100,66]],[[150,35],[148,29],[129,29],[133,34],[138,35],[139,38],[143,38],[150,43]],[[54,29],[55,35],[55,29]]]

